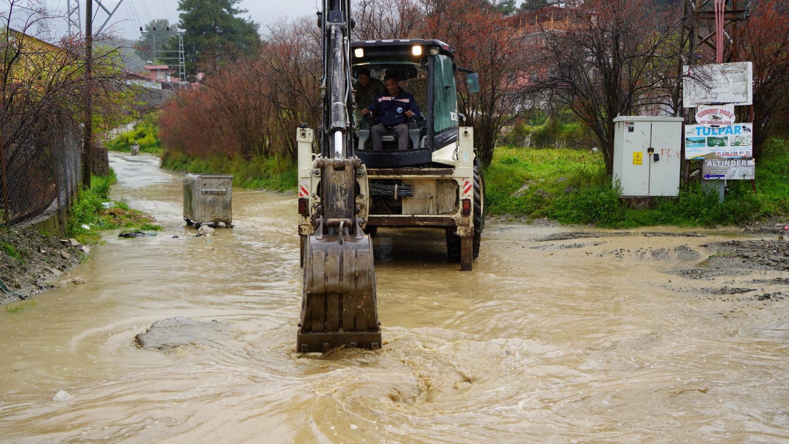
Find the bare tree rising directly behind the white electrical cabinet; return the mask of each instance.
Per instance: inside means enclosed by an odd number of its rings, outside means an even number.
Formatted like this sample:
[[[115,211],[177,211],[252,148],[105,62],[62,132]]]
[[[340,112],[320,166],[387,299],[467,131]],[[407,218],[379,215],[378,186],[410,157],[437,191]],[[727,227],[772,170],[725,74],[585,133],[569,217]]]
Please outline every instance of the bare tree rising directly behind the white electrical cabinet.
[[[533,39],[529,88],[589,127],[610,172],[616,116],[677,110],[679,16],[649,0],[589,0],[570,13],[566,29]]]

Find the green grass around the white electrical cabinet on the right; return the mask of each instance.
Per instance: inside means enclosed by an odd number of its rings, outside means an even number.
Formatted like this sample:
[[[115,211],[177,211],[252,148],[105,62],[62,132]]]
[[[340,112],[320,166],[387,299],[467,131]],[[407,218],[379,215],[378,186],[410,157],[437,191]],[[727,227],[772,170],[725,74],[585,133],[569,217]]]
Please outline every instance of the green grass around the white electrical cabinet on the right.
[[[653,208],[634,209],[619,201],[602,157],[587,150],[499,147],[486,170],[488,212],[550,218],[567,224],[595,224],[604,228],[636,226],[727,226],[789,211],[789,144],[772,150],[757,164],[756,186],[729,181],[724,203],[702,192],[699,181],[682,188],[679,197],[656,198]],[[560,181],[564,177],[566,181]],[[518,189],[528,184],[529,189]],[[567,187],[574,192],[564,192]],[[541,192],[537,192],[542,190]],[[518,196],[520,194],[520,196]]]

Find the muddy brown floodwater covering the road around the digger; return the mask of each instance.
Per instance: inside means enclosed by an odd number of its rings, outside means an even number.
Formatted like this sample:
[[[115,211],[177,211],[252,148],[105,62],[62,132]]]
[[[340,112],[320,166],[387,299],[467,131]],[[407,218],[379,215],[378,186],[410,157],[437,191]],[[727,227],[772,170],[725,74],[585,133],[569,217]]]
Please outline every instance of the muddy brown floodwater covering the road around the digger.
[[[145,155],[111,161],[114,198],[165,229],[107,233],[69,274],[87,284],[0,312],[2,442],[789,439],[787,301],[675,291],[700,284],[664,271],[698,260],[615,253],[685,244],[704,259],[701,244],[753,237],[537,242],[567,228],[490,222],[461,273],[439,232],[381,229],[383,350],[298,356],[294,196],[236,189],[237,227],[191,237],[178,175]],[[136,347],[174,316],[207,330],[170,352]]]

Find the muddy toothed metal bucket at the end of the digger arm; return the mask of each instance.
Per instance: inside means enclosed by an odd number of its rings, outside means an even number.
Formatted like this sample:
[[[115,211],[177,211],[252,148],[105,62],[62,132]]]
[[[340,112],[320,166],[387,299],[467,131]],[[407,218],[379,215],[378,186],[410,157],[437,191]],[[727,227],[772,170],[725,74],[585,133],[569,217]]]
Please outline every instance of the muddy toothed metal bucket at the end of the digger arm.
[[[327,353],[340,346],[379,349],[381,330],[370,237],[312,235],[304,258],[297,350]]]

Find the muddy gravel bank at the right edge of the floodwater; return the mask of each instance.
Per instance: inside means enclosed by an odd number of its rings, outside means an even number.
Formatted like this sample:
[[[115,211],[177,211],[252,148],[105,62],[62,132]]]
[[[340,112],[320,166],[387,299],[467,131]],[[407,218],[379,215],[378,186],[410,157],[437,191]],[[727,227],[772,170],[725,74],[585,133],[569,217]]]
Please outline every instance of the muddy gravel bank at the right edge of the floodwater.
[[[740,233],[750,239],[707,241],[705,237],[714,234],[709,232],[568,231],[534,239],[540,244],[530,248],[557,254],[583,248],[593,257],[663,263],[658,270],[680,277],[669,278],[667,288],[706,299],[789,299],[789,221],[760,222],[742,227]],[[628,247],[606,248],[616,237],[630,237],[632,241]],[[674,240],[662,241],[662,246],[653,248],[639,242],[639,237]]]

